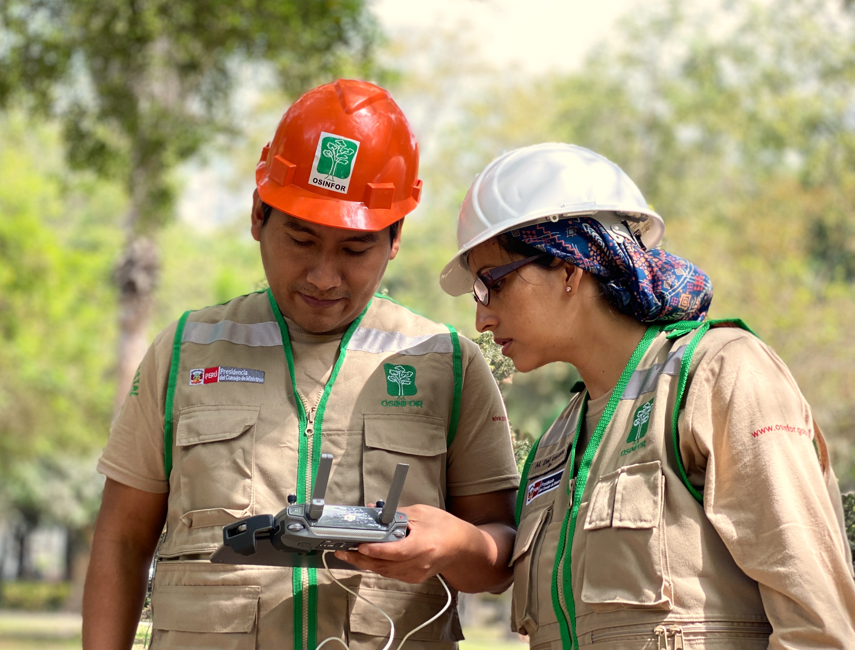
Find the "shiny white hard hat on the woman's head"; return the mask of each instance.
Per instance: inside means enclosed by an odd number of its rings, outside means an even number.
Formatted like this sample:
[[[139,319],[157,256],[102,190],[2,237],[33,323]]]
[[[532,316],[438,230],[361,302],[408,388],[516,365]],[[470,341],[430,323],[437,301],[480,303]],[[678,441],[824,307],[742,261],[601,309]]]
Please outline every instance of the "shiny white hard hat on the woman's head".
[[[586,214],[616,237],[655,248],[665,223],[614,162],[575,144],[542,143],[500,155],[475,178],[457,219],[460,250],[439,285],[451,296],[472,290],[466,256],[503,232]]]

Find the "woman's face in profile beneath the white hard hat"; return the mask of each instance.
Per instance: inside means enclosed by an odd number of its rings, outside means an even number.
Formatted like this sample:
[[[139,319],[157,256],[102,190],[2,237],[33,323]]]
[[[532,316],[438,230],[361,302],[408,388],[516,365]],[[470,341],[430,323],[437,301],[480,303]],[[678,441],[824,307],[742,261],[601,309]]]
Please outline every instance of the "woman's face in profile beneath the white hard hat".
[[[511,255],[491,239],[469,253],[473,280],[496,266],[509,264]],[[551,361],[563,360],[563,348],[572,337],[581,269],[562,264],[553,269],[528,264],[494,284],[490,304],[480,302],[475,313],[478,331],[492,331],[520,372],[529,372]],[[570,291],[568,291],[568,287]]]

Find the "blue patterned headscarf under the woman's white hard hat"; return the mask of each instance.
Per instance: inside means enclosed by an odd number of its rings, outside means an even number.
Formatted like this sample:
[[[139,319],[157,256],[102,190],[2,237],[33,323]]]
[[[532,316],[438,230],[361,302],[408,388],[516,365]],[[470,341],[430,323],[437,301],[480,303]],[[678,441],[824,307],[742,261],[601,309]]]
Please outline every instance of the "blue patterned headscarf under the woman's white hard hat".
[[[710,308],[712,282],[705,272],[664,250],[612,237],[590,217],[546,221],[508,234],[591,273],[603,282],[609,302],[644,323],[703,320]]]

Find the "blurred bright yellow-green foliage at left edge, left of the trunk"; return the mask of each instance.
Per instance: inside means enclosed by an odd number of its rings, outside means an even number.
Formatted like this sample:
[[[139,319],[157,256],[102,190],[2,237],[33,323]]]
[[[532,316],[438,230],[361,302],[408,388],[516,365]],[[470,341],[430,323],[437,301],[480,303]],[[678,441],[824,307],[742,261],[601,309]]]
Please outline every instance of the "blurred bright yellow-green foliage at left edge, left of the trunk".
[[[116,184],[68,173],[55,127],[6,114],[0,142],[0,512],[20,577],[32,530],[66,528],[79,600],[103,484],[93,455],[112,413],[109,280],[126,200]]]

